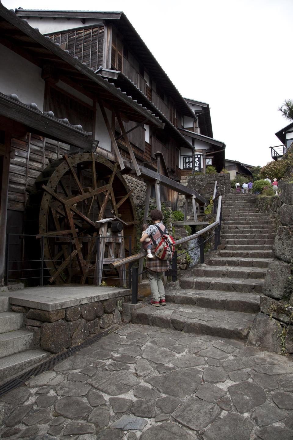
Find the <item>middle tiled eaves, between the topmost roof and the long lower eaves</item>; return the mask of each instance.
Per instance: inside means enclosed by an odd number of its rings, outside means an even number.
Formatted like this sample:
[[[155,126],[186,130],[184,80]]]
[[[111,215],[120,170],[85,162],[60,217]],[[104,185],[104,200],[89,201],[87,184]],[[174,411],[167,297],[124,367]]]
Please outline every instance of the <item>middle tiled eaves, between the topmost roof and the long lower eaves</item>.
[[[181,132],[172,124],[171,121],[148,99],[148,97],[131,81],[124,73],[117,70],[99,68],[96,73],[102,77],[111,78],[115,81],[119,88],[125,88],[127,92],[130,92],[132,96],[138,101],[142,101],[143,105],[149,107],[151,111],[165,122],[165,130],[168,130],[172,136],[175,136],[177,141],[182,147],[192,148],[188,140],[181,134]]]

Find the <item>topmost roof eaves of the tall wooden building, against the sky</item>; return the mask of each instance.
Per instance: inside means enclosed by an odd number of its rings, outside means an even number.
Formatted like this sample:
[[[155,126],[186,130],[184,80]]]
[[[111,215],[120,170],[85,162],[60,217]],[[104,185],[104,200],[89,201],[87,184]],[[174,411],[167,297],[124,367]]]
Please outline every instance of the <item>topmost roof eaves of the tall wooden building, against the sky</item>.
[[[134,26],[130,23],[123,12],[16,9],[15,13],[20,17],[97,18],[113,22],[121,35],[123,35],[123,39],[129,44],[130,49],[135,52],[135,57],[146,67],[151,76],[154,77],[155,82],[170,94],[182,114],[194,117],[194,113],[188,106],[188,103],[178,92],[173,82],[159,65],[159,62],[154,55],[152,55],[152,52],[148,49],[145,42],[141,39]]]

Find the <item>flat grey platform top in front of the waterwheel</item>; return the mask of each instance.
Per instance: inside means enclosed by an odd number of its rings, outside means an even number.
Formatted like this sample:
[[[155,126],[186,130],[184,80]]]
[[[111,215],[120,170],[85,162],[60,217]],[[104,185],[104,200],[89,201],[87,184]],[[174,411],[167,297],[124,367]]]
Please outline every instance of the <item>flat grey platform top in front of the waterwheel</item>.
[[[9,298],[10,304],[51,311],[130,294],[131,290],[123,289],[123,287],[80,286],[75,284],[27,287],[9,292]],[[1,292],[0,296],[7,297],[7,292]]]

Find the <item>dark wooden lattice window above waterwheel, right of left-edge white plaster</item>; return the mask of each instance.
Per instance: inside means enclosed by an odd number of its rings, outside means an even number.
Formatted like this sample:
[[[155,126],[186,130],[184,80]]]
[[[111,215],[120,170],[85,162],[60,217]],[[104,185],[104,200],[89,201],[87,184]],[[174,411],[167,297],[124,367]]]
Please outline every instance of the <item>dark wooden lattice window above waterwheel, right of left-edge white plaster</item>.
[[[51,110],[55,117],[67,118],[69,124],[81,124],[83,130],[94,135],[93,107],[51,85],[47,89],[46,110]]]

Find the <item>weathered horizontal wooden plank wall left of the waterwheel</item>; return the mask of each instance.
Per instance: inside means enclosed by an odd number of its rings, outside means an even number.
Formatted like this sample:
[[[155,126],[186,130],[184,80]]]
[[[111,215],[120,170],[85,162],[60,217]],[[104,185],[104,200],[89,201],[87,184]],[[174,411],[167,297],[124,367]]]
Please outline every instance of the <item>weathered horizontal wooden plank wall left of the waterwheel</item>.
[[[11,139],[15,158],[10,159],[7,209],[24,211],[28,197],[25,189],[33,186],[40,172],[49,165],[49,159],[60,158],[69,153],[69,148],[68,144],[33,133],[27,133],[22,139]]]

